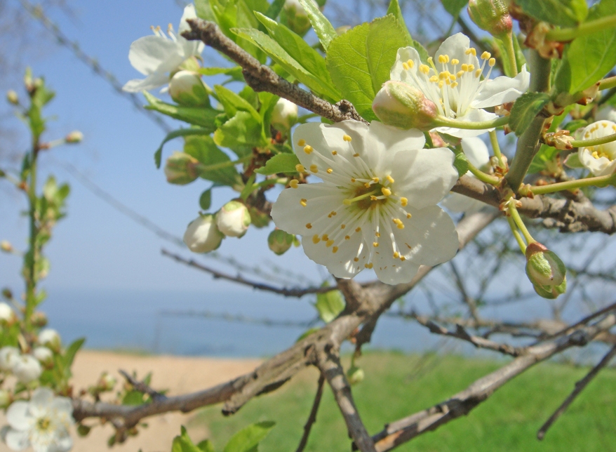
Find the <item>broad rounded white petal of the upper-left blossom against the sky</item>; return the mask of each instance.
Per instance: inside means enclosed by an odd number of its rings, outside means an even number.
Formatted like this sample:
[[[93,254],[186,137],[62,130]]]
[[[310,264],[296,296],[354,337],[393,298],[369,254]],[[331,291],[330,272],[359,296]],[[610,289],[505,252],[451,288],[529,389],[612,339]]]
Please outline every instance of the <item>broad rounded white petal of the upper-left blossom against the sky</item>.
[[[162,36],[144,36],[130,44],[128,60],[144,75],[168,72],[182,64],[182,47]]]

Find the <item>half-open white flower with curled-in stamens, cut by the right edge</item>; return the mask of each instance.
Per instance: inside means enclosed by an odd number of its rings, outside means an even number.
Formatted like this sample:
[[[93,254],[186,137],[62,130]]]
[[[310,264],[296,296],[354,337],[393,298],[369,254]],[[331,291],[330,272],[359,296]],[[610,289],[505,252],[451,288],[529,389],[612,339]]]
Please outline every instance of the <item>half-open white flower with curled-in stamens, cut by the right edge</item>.
[[[616,133],[616,124],[612,121],[597,121],[582,131],[582,140],[603,138]],[[580,163],[594,175],[608,175],[616,170],[616,141],[605,145],[580,147],[577,149]]]

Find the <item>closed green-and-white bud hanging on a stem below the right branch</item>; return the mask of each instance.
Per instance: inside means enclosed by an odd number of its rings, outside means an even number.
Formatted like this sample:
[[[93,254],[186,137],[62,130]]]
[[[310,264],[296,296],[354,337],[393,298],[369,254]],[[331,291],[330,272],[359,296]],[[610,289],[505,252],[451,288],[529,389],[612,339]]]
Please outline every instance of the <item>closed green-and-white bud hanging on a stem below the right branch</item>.
[[[543,298],[553,299],[567,289],[567,269],[553,251],[535,241],[526,247],[526,275],[535,292]]]

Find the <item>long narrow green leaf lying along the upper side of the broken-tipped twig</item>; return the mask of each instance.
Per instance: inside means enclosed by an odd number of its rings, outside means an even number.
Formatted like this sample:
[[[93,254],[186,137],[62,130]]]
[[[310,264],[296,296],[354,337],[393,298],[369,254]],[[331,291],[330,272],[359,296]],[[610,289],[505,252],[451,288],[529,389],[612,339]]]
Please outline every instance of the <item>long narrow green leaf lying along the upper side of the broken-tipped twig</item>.
[[[267,36],[267,34],[260,32],[257,29],[239,28],[234,29],[234,32],[239,36],[244,36],[246,39],[250,39],[252,42],[260,46],[265,53],[272,58],[275,62],[283,67],[289,74],[300,83],[306,85],[315,93],[319,93],[332,100],[340,100],[341,96],[337,89],[328,81],[322,79],[323,74],[319,76],[311,74],[305,69],[295,58],[288,54],[288,52],[274,39]]]

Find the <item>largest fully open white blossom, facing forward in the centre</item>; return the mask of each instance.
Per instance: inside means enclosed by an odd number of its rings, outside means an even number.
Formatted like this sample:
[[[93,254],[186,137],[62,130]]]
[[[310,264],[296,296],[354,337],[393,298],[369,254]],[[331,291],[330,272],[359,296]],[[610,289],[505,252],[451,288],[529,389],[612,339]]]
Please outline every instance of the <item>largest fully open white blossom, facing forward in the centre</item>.
[[[340,278],[373,268],[387,284],[410,281],[420,265],[450,260],[453,221],[436,203],[457,180],[453,152],[422,149],[420,131],[373,122],[297,127],[300,164],[323,182],[283,190],[276,227],[302,236],[304,252]]]

